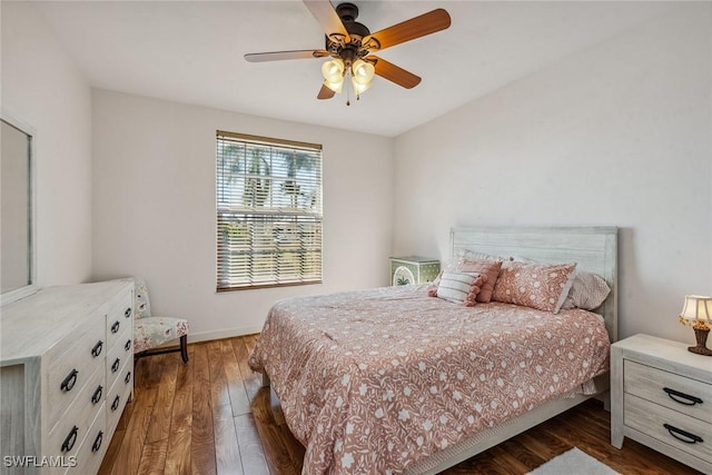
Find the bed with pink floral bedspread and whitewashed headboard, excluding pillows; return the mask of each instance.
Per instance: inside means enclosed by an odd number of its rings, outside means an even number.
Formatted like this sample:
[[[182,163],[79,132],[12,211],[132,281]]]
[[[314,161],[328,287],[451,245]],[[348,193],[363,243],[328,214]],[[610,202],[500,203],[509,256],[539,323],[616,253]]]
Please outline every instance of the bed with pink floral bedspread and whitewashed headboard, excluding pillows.
[[[595,314],[466,307],[426,286],[275,304],[249,363],[306,447],[303,473],[438,473],[604,392],[616,241],[611,227],[451,230],[452,256],[576,263],[601,276],[611,293]]]

